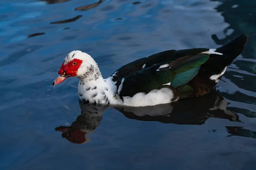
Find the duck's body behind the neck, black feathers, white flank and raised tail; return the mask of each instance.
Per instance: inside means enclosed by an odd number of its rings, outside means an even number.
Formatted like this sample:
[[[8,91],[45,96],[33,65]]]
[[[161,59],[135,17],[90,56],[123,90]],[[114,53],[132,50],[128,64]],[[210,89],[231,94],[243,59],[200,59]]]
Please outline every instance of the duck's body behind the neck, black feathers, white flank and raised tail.
[[[241,54],[247,38],[243,34],[217,50],[168,50],[137,59],[111,75],[116,82],[116,96],[123,102],[131,100],[134,95],[137,100],[160,100],[160,103],[149,103],[155,105],[166,103],[168,100],[173,102],[177,99],[204,95],[221,79],[227,65]],[[161,95],[164,100],[161,100]],[[131,105],[138,102],[137,100]]]

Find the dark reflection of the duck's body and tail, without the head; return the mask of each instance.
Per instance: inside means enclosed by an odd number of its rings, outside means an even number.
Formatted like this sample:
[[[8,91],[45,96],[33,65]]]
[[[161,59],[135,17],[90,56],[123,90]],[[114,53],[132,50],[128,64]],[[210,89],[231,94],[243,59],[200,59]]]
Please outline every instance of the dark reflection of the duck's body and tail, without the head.
[[[140,108],[119,107],[116,109],[129,119],[179,125],[202,125],[211,117],[241,122],[236,113],[227,110],[227,104],[227,101],[220,94],[211,91],[201,97],[183,99],[168,105]]]

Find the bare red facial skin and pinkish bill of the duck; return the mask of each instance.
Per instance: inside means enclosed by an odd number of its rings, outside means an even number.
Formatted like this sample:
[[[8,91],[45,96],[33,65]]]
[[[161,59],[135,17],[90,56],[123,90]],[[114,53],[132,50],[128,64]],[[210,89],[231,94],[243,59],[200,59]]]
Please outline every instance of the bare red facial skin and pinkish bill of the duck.
[[[77,70],[81,66],[82,60],[81,59],[73,59],[67,64],[64,65],[64,62],[61,65],[58,74],[60,74],[53,82],[52,85],[57,85],[63,82],[68,77],[76,76]]]

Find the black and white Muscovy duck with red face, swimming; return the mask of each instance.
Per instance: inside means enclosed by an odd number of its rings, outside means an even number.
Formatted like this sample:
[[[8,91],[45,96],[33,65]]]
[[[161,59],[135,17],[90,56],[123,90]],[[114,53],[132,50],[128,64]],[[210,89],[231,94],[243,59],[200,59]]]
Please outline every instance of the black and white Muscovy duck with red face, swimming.
[[[212,91],[247,41],[248,36],[241,34],[216,49],[162,51],[123,65],[107,78],[89,54],[75,50],[64,58],[52,85],[77,77],[79,99],[90,104],[140,107],[172,103]]]

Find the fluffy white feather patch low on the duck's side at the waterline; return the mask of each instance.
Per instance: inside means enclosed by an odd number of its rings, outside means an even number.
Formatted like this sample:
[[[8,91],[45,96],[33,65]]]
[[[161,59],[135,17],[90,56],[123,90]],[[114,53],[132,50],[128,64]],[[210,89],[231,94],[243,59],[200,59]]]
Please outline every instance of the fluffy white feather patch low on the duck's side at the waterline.
[[[148,94],[143,92],[137,93],[134,96],[125,96],[123,97],[123,105],[127,106],[153,106],[164,103],[172,102],[174,94],[169,88],[161,88],[160,90],[152,90]]]

